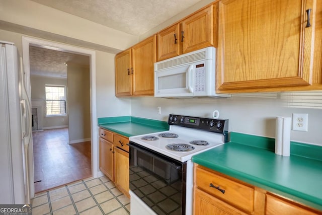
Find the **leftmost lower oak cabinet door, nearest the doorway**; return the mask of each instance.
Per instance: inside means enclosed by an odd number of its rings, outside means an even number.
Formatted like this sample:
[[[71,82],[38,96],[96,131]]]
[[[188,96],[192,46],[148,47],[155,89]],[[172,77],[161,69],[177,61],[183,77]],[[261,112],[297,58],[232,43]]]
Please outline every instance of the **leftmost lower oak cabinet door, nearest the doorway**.
[[[100,170],[114,181],[113,144],[100,137]]]

